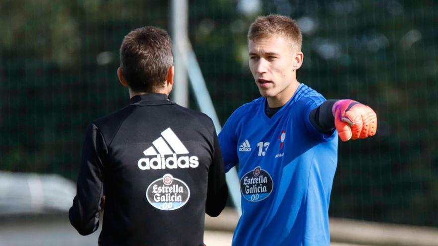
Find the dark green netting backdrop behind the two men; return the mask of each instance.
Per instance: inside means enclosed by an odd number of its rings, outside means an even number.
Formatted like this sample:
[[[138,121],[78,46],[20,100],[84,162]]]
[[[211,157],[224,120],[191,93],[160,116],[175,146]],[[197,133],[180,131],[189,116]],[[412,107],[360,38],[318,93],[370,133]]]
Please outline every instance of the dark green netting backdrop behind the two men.
[[[432,0],[190,0],[189,36],[223,124],[259,96],[249,24],[271,12],[297,19],[299,81],[327,98],[366,102],[379,117],[375,137],[339,144],[330,215],[438,227],[436,8]],[[75,180],[86,126],[128,102],[115,74],[123,36],[169,21],[167,1],[3,0],[0,169]]]

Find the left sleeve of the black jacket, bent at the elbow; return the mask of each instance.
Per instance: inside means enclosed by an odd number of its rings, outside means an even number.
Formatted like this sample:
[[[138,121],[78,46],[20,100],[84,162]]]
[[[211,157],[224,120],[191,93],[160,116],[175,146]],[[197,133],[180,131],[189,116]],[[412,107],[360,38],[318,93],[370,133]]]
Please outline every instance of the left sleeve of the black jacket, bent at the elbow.
[[[69,220],[81,235],[99,227],[100,201],[103,196],[103,160],[107,147],[96,125],[91,124],[85,136],[76,196],[69,210]]]

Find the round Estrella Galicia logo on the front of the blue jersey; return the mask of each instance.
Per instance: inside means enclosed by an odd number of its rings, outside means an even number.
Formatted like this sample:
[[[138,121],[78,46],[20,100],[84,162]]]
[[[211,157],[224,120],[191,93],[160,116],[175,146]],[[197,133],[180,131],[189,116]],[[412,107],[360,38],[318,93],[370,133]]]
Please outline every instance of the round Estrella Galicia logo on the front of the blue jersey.
[[[250,202],[258,202],[268,197],[271,194],[272,186],[271,175],[260,166],[247,172],[240,179],[240,191],[243,197]]]

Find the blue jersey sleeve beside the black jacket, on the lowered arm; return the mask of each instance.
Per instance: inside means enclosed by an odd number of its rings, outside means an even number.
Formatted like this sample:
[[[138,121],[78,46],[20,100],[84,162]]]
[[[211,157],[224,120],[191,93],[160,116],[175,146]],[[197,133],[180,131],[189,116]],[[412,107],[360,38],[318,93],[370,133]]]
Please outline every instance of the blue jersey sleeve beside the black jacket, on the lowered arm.
[[[223,163],[225,165],[225,172],[229,171],[233,166],[239,163],[237,157],[237,137],[235,122],[236,112],[232,113],[228,120],[223,125],[222,130],[219,133],[219,145],[222,152]]]

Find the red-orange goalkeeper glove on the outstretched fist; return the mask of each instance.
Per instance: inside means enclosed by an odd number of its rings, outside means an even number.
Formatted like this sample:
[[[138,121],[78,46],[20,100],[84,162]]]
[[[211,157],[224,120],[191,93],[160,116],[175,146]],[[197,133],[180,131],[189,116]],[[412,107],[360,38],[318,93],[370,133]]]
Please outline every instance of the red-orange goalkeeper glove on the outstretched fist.
[[[331,112],[339,138],[344,142],[376,134],[377,115],[367,105],[350,99],[339,100],[334,103]]]

